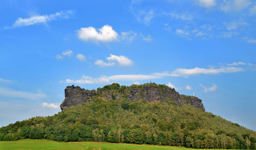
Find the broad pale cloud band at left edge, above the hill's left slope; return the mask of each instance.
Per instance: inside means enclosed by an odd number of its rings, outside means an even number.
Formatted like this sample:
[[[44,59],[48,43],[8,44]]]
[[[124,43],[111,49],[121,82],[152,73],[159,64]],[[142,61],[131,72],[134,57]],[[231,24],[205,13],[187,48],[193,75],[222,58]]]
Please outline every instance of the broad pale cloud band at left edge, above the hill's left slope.
[[[32,99],[37,100],[40,98],[46,97],[44,93],[30,93],[30,92],[23,92],[23,91],[15,91],[8,88],[0,87],[0,95],[6,97],[14,97],[14,98],[24,98],[24,99]]]

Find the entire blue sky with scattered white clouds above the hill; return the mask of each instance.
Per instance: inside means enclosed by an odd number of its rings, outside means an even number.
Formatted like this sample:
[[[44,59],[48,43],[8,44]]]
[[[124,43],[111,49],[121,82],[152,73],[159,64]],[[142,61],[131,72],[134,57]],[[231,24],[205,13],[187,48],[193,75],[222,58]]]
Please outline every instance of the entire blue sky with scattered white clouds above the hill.
[[[256,2],[1,1],[0,126],[64,89],[156,82],[256,131]]]

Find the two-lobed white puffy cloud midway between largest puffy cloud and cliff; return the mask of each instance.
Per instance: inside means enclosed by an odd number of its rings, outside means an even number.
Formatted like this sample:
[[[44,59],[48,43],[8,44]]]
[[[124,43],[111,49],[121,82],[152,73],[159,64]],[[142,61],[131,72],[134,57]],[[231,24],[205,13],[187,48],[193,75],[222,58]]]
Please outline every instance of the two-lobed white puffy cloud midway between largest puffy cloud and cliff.
[[[97,61],[95,61],[95,65],[100,66],[100,67],[110,67],[110,66],[115,65],[115,63],[117,62],[117,64],[120,67],[127,67],[127,66],[132,66],[134,63],[131,59],[129,59],[126,56],[122,56],[122,55],[117,56],[117,55],[110,54],[110,56],[106,57],[106,59],[109,62],[104,62],[103,60],[97,60]]]

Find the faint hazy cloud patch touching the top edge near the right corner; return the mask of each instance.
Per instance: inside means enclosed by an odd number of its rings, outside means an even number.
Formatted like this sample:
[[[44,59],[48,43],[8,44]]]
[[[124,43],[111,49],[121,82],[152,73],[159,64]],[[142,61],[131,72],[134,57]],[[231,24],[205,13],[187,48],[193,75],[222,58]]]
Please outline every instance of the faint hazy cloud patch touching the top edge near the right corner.
[[[221,10],[225,12],[242,11],[251,5],[251,0],[226,0],[221,5]]]

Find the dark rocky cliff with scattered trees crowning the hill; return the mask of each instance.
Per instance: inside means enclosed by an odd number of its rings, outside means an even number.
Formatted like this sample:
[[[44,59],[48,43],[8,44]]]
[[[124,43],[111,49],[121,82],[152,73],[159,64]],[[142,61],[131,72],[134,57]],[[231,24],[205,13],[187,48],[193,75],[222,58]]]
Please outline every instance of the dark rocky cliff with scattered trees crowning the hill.
[[[97,97],[104,100],[145,100],[152,103],[156,101],[172,101],[179,106],[181,104],[190,104],[195,108],[204,110],[201,99],[195,96],[180,95],[175,89],[155,83],[133,84],[130,87],[113,83],[111,85],[105,85],[103,88],[98,88],[97,91],[81,89],[74,85],[68,86],[65,89],[65,99],[60,104],[60,108],[63,111],[71,106],[86,103]]]

